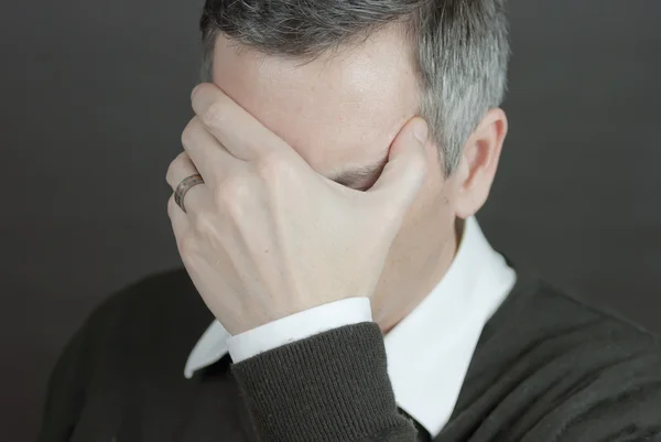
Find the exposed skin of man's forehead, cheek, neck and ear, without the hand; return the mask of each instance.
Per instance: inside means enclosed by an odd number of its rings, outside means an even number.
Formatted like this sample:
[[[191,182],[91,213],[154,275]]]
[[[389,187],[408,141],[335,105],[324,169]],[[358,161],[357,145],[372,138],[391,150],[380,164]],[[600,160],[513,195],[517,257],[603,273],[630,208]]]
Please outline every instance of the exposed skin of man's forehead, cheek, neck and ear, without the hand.
[[[213,82],[317,173],[333,177],[351,165],[384,160],[392,140],[415,116],[412,60],[397,25],[339,57],[321,57],[304,66],[250,47],[238,54],[236,44],[220,35]],[[456,172],[446,177],[440,168],[429,171],[371,297],[372,317],[383,333],[405,317],[449,268],[459,223],[488,197],[507,128],[505,112],[490,109],[464,145]],[[438,164],[438,149],[431,141],[426,154],[430,164]],[[349,186],[369,188],[379,174]]]

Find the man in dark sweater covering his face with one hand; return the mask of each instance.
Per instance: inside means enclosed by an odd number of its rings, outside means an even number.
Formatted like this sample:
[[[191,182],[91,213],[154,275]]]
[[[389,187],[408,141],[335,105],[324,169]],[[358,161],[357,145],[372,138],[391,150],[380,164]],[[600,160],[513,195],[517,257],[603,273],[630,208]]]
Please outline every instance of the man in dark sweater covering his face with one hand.
[[[501,1],[210,0],[202,30],[166,176],[185,268],[76,333],[41,441],[661,441],[659,337],[474,217]]]

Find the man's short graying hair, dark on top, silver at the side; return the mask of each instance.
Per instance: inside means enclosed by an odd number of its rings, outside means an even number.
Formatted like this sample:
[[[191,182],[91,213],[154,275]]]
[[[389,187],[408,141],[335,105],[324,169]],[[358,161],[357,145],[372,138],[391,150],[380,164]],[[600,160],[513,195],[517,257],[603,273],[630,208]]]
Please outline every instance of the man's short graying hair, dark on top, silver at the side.
[[[207,0],[201,19],[203,80],[210,82],[219,33],[268,56],[310,63],[404,24],[413,44],[416,115],[441,149],[446,176],[485,114],[507,90],[505,0]],[[239,52],[241,47],[239,46]]]

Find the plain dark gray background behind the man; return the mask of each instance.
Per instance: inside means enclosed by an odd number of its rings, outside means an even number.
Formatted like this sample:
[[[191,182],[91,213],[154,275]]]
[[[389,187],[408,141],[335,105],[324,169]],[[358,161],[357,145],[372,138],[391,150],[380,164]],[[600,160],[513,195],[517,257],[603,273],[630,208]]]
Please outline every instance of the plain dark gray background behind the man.
[[[34,439],[47,375],[90,309],[181,265],[165,172],[192,117],[202,3],[2,4],[8,440]],[[483,227],[559,285],[660,331],[661,1],[510,11],[511,132]]]

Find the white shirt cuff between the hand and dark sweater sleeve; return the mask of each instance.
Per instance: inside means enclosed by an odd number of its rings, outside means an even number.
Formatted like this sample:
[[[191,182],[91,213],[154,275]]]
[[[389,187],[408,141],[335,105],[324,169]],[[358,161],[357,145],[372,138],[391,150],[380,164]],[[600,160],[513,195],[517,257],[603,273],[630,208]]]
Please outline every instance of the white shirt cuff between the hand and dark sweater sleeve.
[[[232,363],[306,337],[372,320],[369,298],[347,298],[291,314],[227,339]]]

